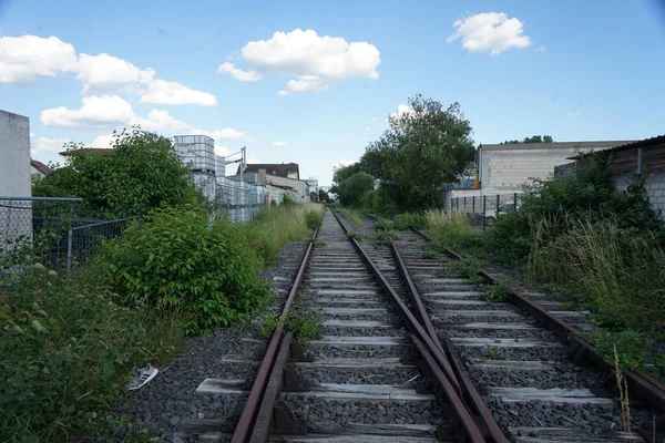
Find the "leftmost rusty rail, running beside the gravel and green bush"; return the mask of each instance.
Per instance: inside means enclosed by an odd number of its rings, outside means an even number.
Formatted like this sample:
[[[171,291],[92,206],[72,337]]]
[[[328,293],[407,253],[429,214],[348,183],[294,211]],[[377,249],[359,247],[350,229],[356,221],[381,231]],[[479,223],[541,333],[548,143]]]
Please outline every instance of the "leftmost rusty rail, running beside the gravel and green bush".
[[[314,240],[317,234],[318,228],[315,229],[309,240],[309,245],[307,246],[307,250],[305,251],[303,261],[300,262],[300,267],[298,268],[298,274],[296,275],[291,289],[288,293],[288,298],[286,299],[286,303],[284,305],[284,309],[282,310],[282,321],[279,321],[279,324],[273,330],[273,336],[270,337],[268,349],[266,350],[266,354],[260,363],[258,373],[256,375],[256,379],[254,380],[252,390],[249,391],[249,396],[247,398],[247,402],[245,403],[245,408],[243,409],[241,419],[238,420],[236,429],[231,439],[231,443],[246,443],[249,441],[252,433],[258,431],[258,429],[255,427],[256,419],[258,416],[259,410],[262,409],[265,402],[264,394],[268,387],[268,382],[272,379],[273,372],[275,372],[275,361],[277,359],[277,353],[282,348],[284,320],[288,316],[294,300],[296,299],[303,285],[305,270],[307,268],[309,256],[311,255],[311,249],[314,248]],[[272,408],[272,404],[269,405],[269,408]],[[266,424],[266,422],[264,421],[262,424],[269,426],[270,422],[267,422]]]

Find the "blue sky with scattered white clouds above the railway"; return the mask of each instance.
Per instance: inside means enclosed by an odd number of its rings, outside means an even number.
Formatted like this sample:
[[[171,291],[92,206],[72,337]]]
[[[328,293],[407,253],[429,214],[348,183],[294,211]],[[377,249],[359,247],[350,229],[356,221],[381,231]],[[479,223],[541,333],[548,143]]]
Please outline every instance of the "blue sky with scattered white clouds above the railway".
[[[477,143],[663,134],[664,54],[661,0],[0,0],[0,109],[37,158],[140,123],[321,185],[417,93]]]

